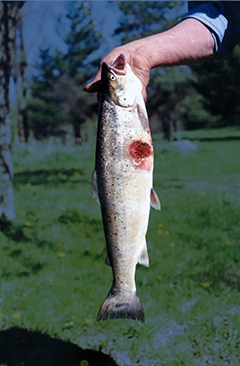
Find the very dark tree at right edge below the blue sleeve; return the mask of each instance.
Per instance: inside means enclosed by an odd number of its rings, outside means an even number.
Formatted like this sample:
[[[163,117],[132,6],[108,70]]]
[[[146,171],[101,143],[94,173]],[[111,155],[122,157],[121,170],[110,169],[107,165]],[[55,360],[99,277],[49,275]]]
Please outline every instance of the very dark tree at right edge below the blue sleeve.
[[[224,62],[206,62],[192,67],[193,86],[201,95],[205,110],[213,116],[207,127],[240,124],[240,47]]]

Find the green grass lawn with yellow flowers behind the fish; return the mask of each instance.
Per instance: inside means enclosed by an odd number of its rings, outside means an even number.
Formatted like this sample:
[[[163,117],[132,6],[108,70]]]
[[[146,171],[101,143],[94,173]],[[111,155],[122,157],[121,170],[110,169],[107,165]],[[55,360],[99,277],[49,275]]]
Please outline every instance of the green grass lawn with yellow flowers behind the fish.
[[[239,365],[238,131],[185,134],[197,151],[154,136],[162,211],[150,215],[150,267],[136,273],[144,324],[96,321],[112,275],[91,198],[94,147],[14,151],[17,218],[0,222],[1,330],[38,330],[123,366]]]

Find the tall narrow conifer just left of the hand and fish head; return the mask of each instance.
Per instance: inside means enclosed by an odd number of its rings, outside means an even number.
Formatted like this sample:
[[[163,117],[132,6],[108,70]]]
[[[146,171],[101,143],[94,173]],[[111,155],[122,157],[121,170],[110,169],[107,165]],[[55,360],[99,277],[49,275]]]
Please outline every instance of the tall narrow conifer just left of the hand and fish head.
[[[75,2],[71,2],[67,18],[70,20],[70,32],[65,38],[68,51],[62,57],[62,68],[59,68],[63,76],[60,90],[68,110],[68,120],[73,125],[75,141],[81,143],[81,125],[97,112],[95,98],[89,98],[83,92],[83,86],[94,75],[94,66],[99,62],[89,62],[87,59],[99,48],[101,35],[91,20],[90,4],[76,6]]]

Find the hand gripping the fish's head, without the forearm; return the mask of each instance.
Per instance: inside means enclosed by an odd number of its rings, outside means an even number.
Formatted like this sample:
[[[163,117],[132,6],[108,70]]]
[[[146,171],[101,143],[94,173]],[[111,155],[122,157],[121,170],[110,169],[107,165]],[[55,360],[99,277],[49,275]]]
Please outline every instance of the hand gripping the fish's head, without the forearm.
[[[101,83],[101,68],[102,63],[106,62],[109,66],[114,64],[114,61],[120,54],[123,54],[126,58],[126,62],[131,66],[133,73],[140,79],[142,82],[142,95],[144,100],[147,99],[146,87],[149,82],[149,72],[150,65],[148,59],[145,54],[140,51],[140,48],[137,47],[138,41],[128,43],[124,46],[120,46],[114,48],[110,53],[107,54],[103,58],[100,63],[98,72],[95,76],[95,79],[85,86],[84,90],[88,93],[99,92],[100,83]]]

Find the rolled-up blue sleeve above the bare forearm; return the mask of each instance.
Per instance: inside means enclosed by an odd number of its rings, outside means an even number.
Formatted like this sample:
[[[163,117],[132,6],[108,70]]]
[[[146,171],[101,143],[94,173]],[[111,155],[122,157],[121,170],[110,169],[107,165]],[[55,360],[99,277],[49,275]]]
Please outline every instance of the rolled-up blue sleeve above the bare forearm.
[[[189,12],[181,19],[194,18],[206,25],[215,42],[215,61],[229,56],[240,42],[239,1],[189,1]]]

